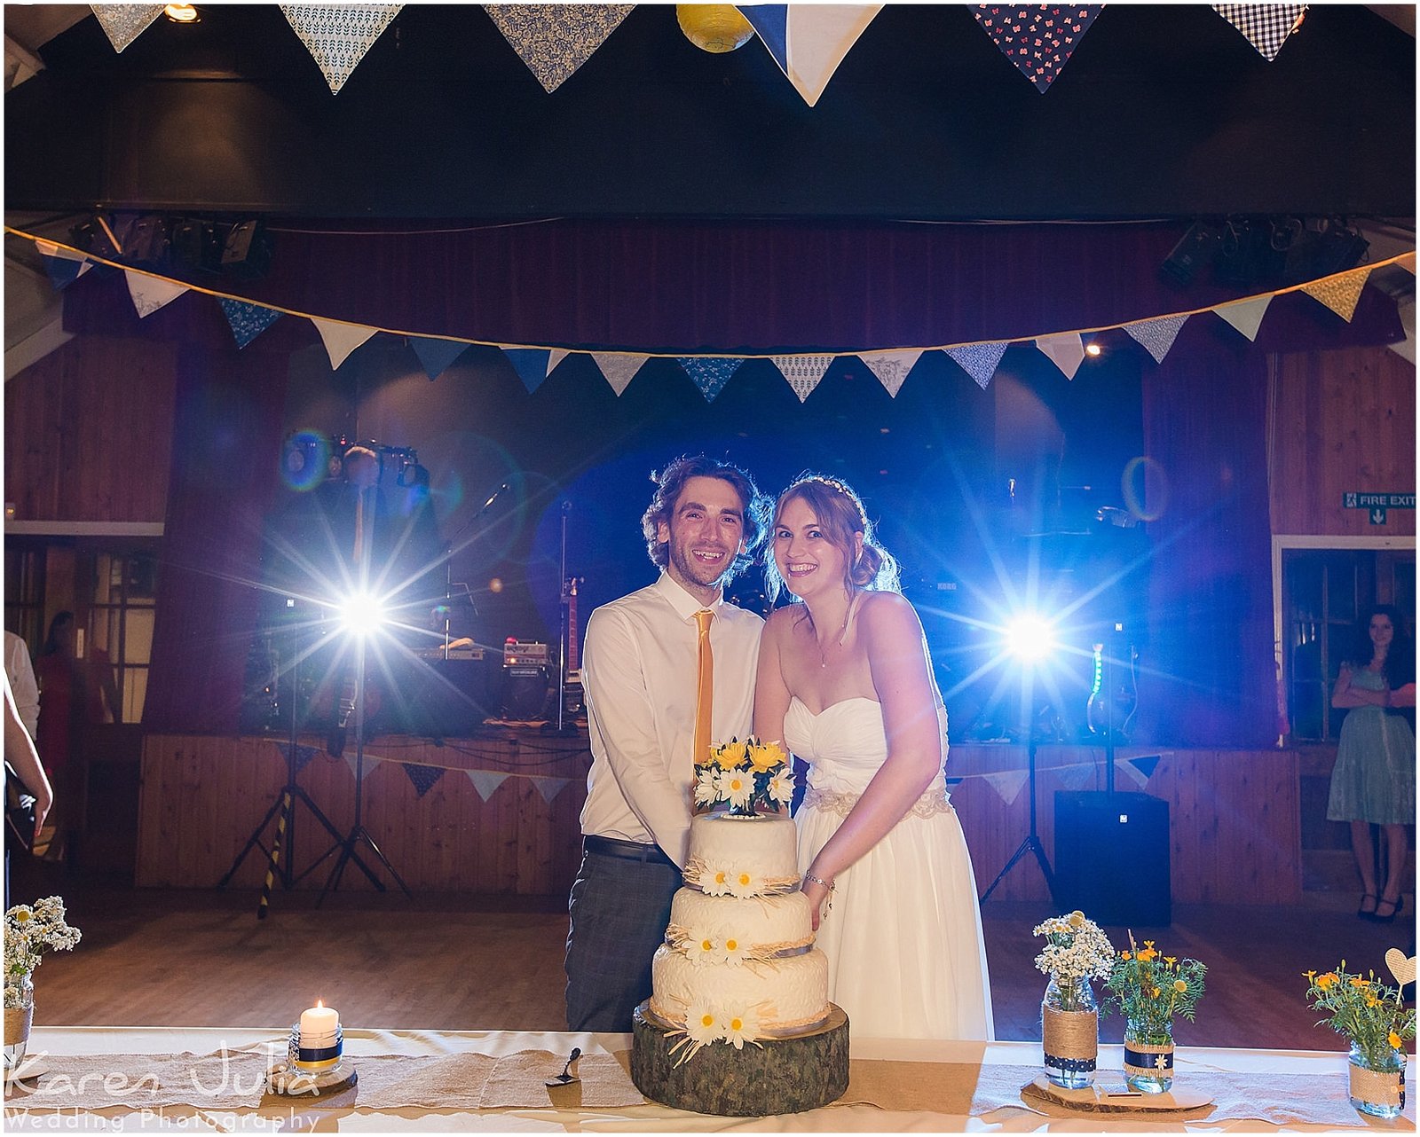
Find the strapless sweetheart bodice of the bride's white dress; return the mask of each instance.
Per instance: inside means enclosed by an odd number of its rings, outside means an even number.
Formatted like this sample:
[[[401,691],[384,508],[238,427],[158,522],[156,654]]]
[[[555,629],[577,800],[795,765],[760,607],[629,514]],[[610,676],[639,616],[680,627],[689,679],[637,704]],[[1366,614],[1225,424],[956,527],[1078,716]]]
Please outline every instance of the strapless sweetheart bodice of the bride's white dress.
[[[946,761],[946,707],[937,707],[937,723]],[[794,696],[784,713],[784,747],[809,764],[808,784],[815,789],[862,793],[888,758],[882,704],[875,698],[855,696],[831,703],[814,714]]]

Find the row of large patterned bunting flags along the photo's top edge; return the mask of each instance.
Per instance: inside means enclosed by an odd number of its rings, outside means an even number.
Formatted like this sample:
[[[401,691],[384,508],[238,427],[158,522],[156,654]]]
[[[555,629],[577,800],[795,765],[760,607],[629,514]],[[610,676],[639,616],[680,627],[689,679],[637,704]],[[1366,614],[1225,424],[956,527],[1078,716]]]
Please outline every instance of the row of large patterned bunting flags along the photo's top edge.
[[[403,4],[281,4],[291,30],[339,94]],[[483,4],[484,13],[548,94],[621,26],[635,4]],[[882,4],[744,4],[784,77],[814,106]],[[968,4],[981,31],[1045,94],[1105,4]],[[1213,4],[1271,62],[1301,27],[1306,4]],[[115,51],[136,40],[162,4],[89,4]],[[471,6],[470,6],[471,9]]]

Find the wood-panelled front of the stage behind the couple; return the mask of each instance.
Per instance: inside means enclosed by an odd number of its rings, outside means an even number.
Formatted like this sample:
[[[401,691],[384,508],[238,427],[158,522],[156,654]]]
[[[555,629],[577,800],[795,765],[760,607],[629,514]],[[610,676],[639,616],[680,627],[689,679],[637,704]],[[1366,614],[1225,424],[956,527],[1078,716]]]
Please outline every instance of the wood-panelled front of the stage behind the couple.
[[[151,734],[143,741],[136,883],[209,889],[231,867],[285,784],[285,738]],[[354,823],[355,747],[342,758],[325,738],[298,738],[297,782],[345,833]],[[1169,802],[1174,903],[1296,904],[1302,899],[1299,755],[1292,749],[1150,749],[1120,747],[1119,791]],[[579,813],[591,754],[584,732],[487,728],[440,742],[382,735],[365,745],[362,822],[416,891],[565,894],[581,857]],[[1030,795],[1020,782],[1025,747],[951,747],[951,801],[961,819],[977,884],[985,887],[1028,829]],[[1102,747],[1042,745],[1037,752],[1041,842],[1055,860],[1054,795],[1103,789]],[[1140,778],[1147,774],[1147,782]],[[1015,788],[1018,785],[1018,789]],[[274,822],[263,833],[270,847]],[[298,876],[331,837],[305,805],[294,819]],[[283,856],[290,856],[290,850]],[[237,867],[231,887],[260,887],[261,849]],[[325,869],[301,876],[318,890]],[[371,889],[346,870],[342,889]],[[1003,900],[1048,900],[1039,873],[1011,872]]]

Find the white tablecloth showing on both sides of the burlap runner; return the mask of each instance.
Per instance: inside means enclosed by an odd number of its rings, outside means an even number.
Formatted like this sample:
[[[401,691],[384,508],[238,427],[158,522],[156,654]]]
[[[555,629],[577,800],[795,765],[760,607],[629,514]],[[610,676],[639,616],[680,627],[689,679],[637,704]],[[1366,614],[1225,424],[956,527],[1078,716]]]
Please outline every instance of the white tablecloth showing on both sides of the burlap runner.
[[[214,1028],[37,1028],[30,1040],[30,1053],[43,1055],[104,1055],[104,1053],[210,1053],[223,1048],[247,1049],[264,1042],[285,1045],[283,1029],[214,1029]],[[453,1032],[453,1031],[355,1031],[345,1033],[345,1053],[361,1055],[450,1055],[480,1052],[494,1058],[518,1050],[550,1050],[569,1053],[574,1046],[584,1052],[615,1053],[630,1046],[628,1035],[535,1033],[535,1032]],[[932,1063],[995,1063],[1008,1066],[1038,1066],[1038,1042],[916,1042],[916,1040],[858,1040],[852,1042],[852,1056],[889,1062]],[[1100,1046],[1099,1067],[1118,1075],[1120,1048]],[[1203,1070],[1230,1073],[1285,1073],[1316,1079],[1315,1092],[1345,1096],[1346,1058],[1342,1053],[1302,1050],[1227,1050],[1210,1048],[1181,1048],[1176,1058],[1180,1083],[1193,1080],[1190,1075]],[[1118,1077],[1116,1077],[1118,1080]],[[1407,1084],[1413,1092],[1413,1083]],[[1413,1116],[1413,1114],[1411,1114]],[[169,1110],[104,1110],[99,1114],[72,1111],[26,1110],[18,1099],[6,1103],[6,1128],[14,1131],[183,1131],[183,1133],[271,1133],[285,1131],[588,1131],[588,1133],[790,1133],[790,1131],[1279,1131],[1275,1124],[1258,1120],[1203,1119],[1197,1121],[1169,1120],[1149,1123],[1139,1116],[1118,1121],[1088,1114],[1079,1117],[1047,1117],[1024,1104],[1003,1107],[980,1117],[926,1110],[900,1111],[875,1106],[826,1106],[809,1113],[781,1117],[706,1117],[665,1106],[645,1104],[625,1109],[520,1109],[497,1111],[427,1111],[427,1110],[331,1110],[311,1109],[304,1103],[264,1106],[260,1110],[214,1111],[187,1107]],[[1413,1121],[1367,1123],[1356,1114],[1355,1128],[1413,1128]],[[1287,1131],[1331,1131],[1322,1126],[1295,1126]]]

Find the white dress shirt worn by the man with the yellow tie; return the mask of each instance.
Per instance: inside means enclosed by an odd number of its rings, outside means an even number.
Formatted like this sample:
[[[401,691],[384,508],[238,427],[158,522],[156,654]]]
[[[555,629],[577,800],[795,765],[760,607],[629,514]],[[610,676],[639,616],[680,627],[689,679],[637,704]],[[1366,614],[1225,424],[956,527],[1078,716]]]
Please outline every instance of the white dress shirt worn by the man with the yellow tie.
[[[680,866],[694,782],[694,613],[706,606],[662,572],[656,583],[598,608],[582,647],[592,745],[582,832],[655,842]],[[728,742],[750,732],[764,620],[720,596],[709,608],[710,738]]]

